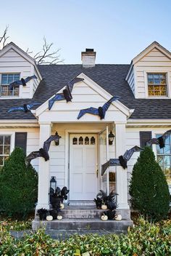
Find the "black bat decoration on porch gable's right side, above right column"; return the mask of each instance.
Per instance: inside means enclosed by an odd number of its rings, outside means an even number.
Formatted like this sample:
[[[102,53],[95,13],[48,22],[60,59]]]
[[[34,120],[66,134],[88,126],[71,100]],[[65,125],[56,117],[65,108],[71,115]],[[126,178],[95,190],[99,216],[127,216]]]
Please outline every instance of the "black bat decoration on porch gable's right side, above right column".
[[[86,113],[91,113],[93,115],[100,116],[100,119],[104,119],[105,114],[109,108],[109,105],[115,100],[119,100],[119,96],[113,96],[110,100],[107,101],[102,107],[99,108],[85,108],[80,110],[80,113],[78,114],[78,119],[80,119],[82,116],[84,116]]]

